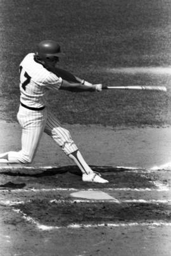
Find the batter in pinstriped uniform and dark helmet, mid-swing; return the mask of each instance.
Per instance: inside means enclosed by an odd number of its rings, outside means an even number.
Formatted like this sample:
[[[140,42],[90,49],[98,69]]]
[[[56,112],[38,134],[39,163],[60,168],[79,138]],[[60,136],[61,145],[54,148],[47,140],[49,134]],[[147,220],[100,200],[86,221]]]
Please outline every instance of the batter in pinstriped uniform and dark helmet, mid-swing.
[[[20,63],[20,107],[17,119],[22,127],[22,150],[0,154],[0,163],[31,163],[42,133],[46,132],[70,157],[82,172],[82,181],[106,183],[93,172],[82,157],[70,132],[47,111],[46,94],[50,91],[101,91],[101,84],[91,84],[75,77],[71,82],[56,75],[56,63],[61,56],[60,45],[46,40],[37,45],[35,53],[28,53]]]

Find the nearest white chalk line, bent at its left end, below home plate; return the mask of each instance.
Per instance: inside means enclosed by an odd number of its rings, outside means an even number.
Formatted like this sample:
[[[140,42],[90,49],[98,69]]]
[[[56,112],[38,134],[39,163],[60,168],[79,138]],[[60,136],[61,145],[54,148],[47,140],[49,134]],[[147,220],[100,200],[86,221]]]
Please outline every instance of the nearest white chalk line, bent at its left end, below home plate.
[[[49,231],[53,229],[63,229],[63,228],[72,228],[72,229],[79,229],[82,227],[85,228],[94,228],[94,227],[137,227],[137,226],[146,226],[146,227],[170,227],[171,222],[124,222],[124,223],[101,223],[101,224],[70,224],[67,226],[46,226],[40,224],[38,221],[35,221],[34,218],[27,216],[24,214],[20,209],[13,209],[14,212],[17,214],[21,214],[25,221],[29,222],[30,224],[34,224],[38,229]]]

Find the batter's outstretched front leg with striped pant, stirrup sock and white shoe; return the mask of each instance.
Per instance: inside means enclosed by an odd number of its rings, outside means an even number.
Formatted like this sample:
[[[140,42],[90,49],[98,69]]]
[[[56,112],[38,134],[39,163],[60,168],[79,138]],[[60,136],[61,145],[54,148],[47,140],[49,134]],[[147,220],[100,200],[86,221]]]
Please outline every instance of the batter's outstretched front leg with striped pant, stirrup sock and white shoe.
[[[62,148],[65,154],[70,157],[82,172],[82,180],[90,182],[108,182],[102,179],[98,174],[92,171],[82,157],[77,145],[74,143],[70,132],[61,127],[60,122],[53,115],[47,117],[45,132],[56,141],[56,143]]]

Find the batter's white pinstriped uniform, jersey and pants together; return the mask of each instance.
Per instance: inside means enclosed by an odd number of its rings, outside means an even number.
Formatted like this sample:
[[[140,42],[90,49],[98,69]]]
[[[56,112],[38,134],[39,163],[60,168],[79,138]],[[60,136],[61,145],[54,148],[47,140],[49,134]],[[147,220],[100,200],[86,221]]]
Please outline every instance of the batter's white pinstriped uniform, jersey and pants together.
[[[20,100],[29,107],[40,108],[46,105],[46,93],[49,89],[58,91],[62,79],[49,72],[40,63],[34,61],[34,54],[30,53],[20,64]],[[41,111],[29,110],[20,105],[17,114],[22,127],[22,150],[8,153],[9,162],[32,162],[42,133],[46,132],[69,155],[77,150],[77,146],[70,136],[70,132],[61,127],[58,119],[47,109]]]

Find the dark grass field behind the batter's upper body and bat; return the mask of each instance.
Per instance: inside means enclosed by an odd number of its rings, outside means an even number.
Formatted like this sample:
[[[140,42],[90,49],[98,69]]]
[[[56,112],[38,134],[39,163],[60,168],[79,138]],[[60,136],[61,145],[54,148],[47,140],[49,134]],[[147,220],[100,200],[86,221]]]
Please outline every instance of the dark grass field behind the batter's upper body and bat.
[[[54,39],[60,67],[94,83],[163,85],[150,91],[60,92],[49,108],[68,124],[170,125],[169,74],[117,74],[115,67],[168,67],[171,2],[168,0],[1,0],[0,117],[16,120],[18,65],[35,44]]]

